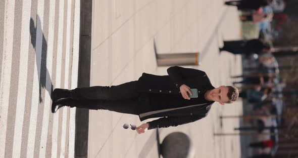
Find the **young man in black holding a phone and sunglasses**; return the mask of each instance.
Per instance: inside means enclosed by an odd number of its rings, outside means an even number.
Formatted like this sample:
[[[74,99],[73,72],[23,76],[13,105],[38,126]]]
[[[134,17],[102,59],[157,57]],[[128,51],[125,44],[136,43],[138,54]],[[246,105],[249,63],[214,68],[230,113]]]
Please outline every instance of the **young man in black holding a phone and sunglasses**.
[[[167,72],[169,75],[164,76],[143,73],[138,81],[118,86],[55,89],[52,112],[69,106],[136,114],[140,121],[162,117],[137,127],[140,134],[146,129],[200,120],[215,101],[223,105],[238,98],[238,90],[232,86],[214,88],[204,71],[173,66]],[[197,98],[190,98],[190,89],[197,89]]]

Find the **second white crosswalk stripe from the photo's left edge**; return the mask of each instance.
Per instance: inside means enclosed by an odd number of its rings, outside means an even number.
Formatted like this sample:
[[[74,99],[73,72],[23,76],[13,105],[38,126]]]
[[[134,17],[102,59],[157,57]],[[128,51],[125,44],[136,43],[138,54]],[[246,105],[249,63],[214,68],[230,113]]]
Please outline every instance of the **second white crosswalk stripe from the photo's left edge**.
[[[19,85],[16,108],[16,120],[14,129],[13,157],[21,157],[21,142],[25,112],[25,99],[27,89],[28,72],[28,49],[29,49],[29,26],[30,26],[31,0],[23,0],[22,8],[22,28],[21,28],[21,46],[20,46],[20,68]]]

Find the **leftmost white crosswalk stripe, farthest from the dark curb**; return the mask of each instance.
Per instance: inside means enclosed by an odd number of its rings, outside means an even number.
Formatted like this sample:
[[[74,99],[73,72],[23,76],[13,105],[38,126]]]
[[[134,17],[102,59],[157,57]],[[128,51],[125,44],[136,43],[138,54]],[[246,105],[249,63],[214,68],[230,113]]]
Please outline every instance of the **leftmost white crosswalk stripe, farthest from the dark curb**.
[[[3,57],[2,71],[0,83],[0,157],[5,157],[5,144],[7,132],[7,114],[9,105],[9,92],[11,84],[11,67],[13,54],[13,34],[14,34],[14,11],[15,1],[5,1],[5,21],[4,21],[4,41],[3,41]]]

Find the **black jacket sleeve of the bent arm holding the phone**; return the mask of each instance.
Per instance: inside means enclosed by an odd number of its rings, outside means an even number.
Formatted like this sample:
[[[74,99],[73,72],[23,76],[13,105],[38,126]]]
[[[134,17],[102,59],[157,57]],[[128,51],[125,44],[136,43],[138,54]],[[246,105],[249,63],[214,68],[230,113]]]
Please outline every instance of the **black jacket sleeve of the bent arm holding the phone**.
[[[167,72],[178,89],[180,88],[181,85],[184,84],[183,78],[206,76],[206,73],[204,71],[193,69],[193,68],[184,68],[180,66],[169,67],[167,69]]]

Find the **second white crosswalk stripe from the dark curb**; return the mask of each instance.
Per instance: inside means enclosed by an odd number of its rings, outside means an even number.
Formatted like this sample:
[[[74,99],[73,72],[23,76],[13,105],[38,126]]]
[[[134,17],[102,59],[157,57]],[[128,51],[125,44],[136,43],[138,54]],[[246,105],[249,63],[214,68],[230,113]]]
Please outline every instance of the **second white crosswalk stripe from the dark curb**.
[[[69,78],[69,52],[70,52],[70,25],[71,25],[71,2],[67,1],[67,22],[66,22],[66,50],[65,50],[65,77],[64,77],[64,88],[68,89],[68,78]],[[66,141],[66,121],[67,121],[67,108],[63,108],[62,117],[62,135],[61,135],[61,150],[60,157],[65,157],[65,141]],[[68,148],[67,148],[68,149]]]

